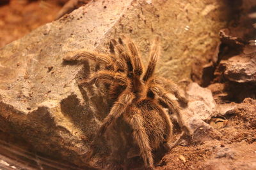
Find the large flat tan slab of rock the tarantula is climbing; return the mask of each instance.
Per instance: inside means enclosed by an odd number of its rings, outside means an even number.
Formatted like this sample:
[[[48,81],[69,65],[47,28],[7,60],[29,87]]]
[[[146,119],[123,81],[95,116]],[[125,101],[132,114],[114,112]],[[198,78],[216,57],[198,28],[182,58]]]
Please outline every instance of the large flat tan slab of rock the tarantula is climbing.
[[[129,34],[147,62],[150,41],[159,36],[158,73],[189,78],[192,60],[207,60],[217,43],[223,6],[217,0],[92,1],[6,45],[0,50],[0,130],[38,152],[87,166],[84,156],[109,107],[100,88],[77,86],[91,64],[65,66],[63,57],[83,48],[106,51],[109,38]]]

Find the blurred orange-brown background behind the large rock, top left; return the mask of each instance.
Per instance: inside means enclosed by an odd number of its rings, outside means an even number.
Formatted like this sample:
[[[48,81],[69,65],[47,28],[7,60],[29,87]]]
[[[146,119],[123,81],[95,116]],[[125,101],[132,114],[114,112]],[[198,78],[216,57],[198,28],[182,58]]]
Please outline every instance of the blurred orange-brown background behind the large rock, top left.
[[[0,48],[88,1],[1,0]]]

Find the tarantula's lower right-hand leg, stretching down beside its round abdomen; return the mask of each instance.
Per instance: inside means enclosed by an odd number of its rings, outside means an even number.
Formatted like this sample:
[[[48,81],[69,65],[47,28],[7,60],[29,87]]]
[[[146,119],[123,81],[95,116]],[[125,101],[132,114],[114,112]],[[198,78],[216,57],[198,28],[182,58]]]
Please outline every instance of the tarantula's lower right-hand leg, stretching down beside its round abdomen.
[[[189,128],[184,124],[184,121],[182,119],[182,116],[180,114],[180,108],[177,101],[170,99],[166,94],[167,92],[160,87],[159,85],[152,85],[150,87],[150,90],[159,96],[163,102],[168,106],[168,108],[177,115],[178,124],[180,125],[180,128],[188,135],[191,136],[191,132],[189,131]]]

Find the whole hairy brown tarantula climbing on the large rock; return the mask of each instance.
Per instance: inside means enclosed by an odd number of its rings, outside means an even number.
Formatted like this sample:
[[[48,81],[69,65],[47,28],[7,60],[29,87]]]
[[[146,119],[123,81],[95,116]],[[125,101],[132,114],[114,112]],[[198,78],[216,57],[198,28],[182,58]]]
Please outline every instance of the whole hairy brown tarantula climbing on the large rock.
[[[163,108],[177,115],[180,127],[189,134],[180,115],[180,107],[186,107],[188,101],[180,96],[175,83],[154,76],[160,52],[159,38],[152,43],[145,73],[140,53],[131,39],[126,36],[118,41],[111,39],[109,47],[109,54],[83,51],[65,57],[64,61],[93,60],[102,66],[80,85],[96,82],[108,85],[108,94],[114,103],[95,138],[108,131],[113,169],[122,169],[134,148],[140,151],[145,168],[152,169],[154,154],[166,153],[171,148],[168,141],[172,138],[173,125]],[[168,93],[174,94],[177,100],[171,99]]]

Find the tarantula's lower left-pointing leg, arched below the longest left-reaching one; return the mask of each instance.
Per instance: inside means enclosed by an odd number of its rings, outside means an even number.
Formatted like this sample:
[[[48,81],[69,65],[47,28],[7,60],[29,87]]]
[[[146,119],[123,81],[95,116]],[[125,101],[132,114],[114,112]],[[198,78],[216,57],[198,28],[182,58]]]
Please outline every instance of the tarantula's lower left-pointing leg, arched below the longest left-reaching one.
[[[79,85],[91,85],[99,80],[104,84],[118,83],[118,85],[122,86],[127,86],[129,83],[124,73],[115,73],[113,71],[103,70],[93,73],[89,80],[81,81]]]

